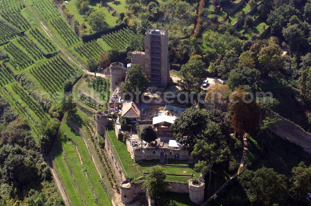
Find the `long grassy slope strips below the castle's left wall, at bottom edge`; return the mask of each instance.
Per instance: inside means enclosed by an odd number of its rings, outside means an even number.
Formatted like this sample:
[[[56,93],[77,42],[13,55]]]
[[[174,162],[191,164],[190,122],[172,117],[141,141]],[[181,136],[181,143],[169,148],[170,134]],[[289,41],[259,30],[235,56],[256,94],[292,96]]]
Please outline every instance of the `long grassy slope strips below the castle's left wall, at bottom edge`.
[[[71,196],[69,196],[69,198],[72,202],[77,202],[77,204],[73,205],[80,205],[81,203],[81,196],[79,193],[76,193],[77,186],[80,189],[86,205],[111,205],[110,199],[101,185],[100,177],[82,138],[68,126],[66,121],[64,121],[60,127],[60,134],[51,152],[51,159],[56,165],[57,173],[62,183],[65,185],[66,191],[70,190],[69,194],[71,194]],[[81,165],[76,146],[81,156],[83,166]],[[64,153],[62,152],[62,148]],[[64,154],[67,156],[77,186],[74,184],[72,176],[69,175],[70,171],[68,171],[69,167],[67,166]],[[84,172],[87,173],[88,179]]]

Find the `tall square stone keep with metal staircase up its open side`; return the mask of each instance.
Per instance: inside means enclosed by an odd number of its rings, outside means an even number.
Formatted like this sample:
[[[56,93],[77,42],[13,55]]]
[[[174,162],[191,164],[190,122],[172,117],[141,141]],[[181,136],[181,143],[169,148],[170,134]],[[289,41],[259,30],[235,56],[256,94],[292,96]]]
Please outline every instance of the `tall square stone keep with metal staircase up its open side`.
[[[168,52],[167,28],[148,27],[145,34],[145,73],[152,86],[165,87],[169,82]]]

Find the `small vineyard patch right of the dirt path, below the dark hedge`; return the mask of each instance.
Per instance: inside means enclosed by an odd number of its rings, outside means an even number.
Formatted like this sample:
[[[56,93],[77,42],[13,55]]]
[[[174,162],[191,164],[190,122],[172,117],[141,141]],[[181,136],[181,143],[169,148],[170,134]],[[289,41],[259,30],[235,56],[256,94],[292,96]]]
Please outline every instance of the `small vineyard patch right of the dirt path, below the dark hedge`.
[[[104,52],[104,49],[96,41],[82,43],[81,45],[74,48],[81,56],[85,56],[88,59],[98,59],[100,54]]]

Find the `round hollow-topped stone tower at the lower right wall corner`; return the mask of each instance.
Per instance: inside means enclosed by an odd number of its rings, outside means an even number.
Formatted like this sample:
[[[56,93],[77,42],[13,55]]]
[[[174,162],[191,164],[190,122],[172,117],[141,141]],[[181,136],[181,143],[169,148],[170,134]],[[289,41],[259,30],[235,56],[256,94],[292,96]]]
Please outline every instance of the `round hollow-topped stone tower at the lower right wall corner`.
[[[202,204],[204,202],[204,188],[205,182],[200,180],[189,180],[189,197],[195,204]]]

